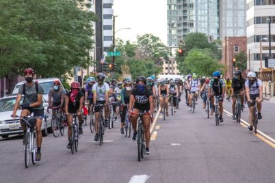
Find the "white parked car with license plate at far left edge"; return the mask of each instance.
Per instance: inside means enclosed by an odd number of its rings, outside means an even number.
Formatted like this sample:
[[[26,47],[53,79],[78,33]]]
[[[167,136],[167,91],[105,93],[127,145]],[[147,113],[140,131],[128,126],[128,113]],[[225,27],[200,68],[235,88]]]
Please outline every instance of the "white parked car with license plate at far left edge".
[[[10,117],[16,102],[16,95],[5,96],[0,99],[0,136],[8,138],[9,135],[23,134],[23,130],[18,118]],[[21,99],[21,104],[23,97]],[[44,113],[49,116],[42,121],[42,136],[46,137],[51,132],[51,111],[47,113],[48,103],[43,98]],[[18,109],[16,115],[21,115],[21,109]]]

